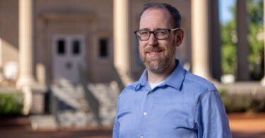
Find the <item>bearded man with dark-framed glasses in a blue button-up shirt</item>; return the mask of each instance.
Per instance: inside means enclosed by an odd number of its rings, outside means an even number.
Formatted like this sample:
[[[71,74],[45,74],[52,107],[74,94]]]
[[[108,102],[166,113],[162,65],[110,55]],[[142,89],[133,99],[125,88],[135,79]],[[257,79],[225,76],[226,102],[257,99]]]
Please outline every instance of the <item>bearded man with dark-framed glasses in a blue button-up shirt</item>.
[[[175,59],[183,40],[179,11],[151,3],[139,17],[139,52],[146,70],[119,96],[113,137],[232,137],[215,86]]]

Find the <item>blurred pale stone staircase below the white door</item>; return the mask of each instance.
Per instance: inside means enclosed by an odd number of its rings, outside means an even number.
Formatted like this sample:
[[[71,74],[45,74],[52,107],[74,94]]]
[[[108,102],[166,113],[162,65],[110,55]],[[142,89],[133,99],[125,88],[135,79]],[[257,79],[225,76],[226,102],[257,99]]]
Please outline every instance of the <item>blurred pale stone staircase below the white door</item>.
[[[52,86],[53,96],[57,99],[55,115],[58,127],[113,125],[119,95],[117,83],[88,84],[87,89],[88,92],[85,92],[83,86],[73,86],[67,80]],[[91,99],[91,96],[96,100]],[[98,113],[95,113],[93,107],[98,108]]]

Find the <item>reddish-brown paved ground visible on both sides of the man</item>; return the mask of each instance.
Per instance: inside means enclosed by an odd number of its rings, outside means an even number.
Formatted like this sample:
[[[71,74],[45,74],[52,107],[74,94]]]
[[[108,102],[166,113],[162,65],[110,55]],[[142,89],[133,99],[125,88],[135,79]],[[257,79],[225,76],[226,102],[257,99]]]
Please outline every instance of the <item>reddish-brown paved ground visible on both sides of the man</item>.
[[[228,118],[234,138],[265,138],[265,113],[230,114]],[[71,128],[67,130],[33,130],[30,127],[30,122],[27,117],[4,120],[4,123],[3,120],[0,119],[0,137],[111,138],[112,126],[104,128]]]

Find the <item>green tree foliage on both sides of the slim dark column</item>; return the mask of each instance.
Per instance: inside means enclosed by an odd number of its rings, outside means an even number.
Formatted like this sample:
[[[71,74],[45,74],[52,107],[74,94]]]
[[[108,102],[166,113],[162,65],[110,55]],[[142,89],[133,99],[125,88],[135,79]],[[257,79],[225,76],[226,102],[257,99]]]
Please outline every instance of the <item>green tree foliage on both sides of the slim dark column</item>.
[[[224,74],[235,74],[237,66],[236,10],[231,8],[232,21],[221,24],[222,69]],[[264,74],[263,1],[247,0],[249,71],[252,80],[260,80]]]

